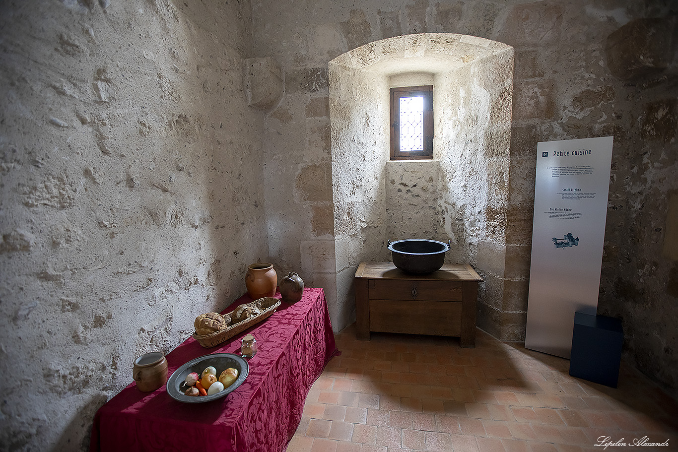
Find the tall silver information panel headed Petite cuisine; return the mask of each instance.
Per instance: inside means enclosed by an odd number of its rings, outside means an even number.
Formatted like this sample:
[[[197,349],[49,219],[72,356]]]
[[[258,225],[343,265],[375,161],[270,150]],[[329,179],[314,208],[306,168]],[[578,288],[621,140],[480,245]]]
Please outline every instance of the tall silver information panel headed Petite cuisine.
[[[526,348],[570,358],[574,313],[595,314],[612,138],[537,145]]]

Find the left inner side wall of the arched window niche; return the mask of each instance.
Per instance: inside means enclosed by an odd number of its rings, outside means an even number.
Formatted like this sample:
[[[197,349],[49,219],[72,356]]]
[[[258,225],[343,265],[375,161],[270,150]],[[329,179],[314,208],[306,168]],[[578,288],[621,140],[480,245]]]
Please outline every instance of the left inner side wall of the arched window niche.
[[[350,58],[346,58],[350,59]],[[388,80],[351,65],[330,64],[332,179],[336,294],[330,307],[332,326],[355,320],[353,276],[365,256],[383,255],[386,246],[386,169],[388,156]],[[329,302],[328,302],[329,303]]]

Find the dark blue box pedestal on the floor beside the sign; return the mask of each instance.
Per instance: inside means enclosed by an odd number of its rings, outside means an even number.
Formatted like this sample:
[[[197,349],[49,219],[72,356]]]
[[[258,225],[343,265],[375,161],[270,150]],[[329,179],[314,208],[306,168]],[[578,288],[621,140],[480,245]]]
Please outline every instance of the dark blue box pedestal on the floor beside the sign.
[[[619,319],[575,312],[570,375],[616,388],[623,342]]]

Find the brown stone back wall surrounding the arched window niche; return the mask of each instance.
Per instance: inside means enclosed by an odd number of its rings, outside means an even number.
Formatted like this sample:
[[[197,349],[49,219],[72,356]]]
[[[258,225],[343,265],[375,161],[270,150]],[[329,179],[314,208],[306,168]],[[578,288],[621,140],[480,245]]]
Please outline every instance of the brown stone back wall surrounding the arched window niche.
[[[287,255],[299,255],[302,242],[334,248],[330,228],[306,226],[311,218],[325,218],[321,211],[332,201],[327,178],[331,125],[329,113],[317,108],[328,103],[328,62],[362,45],[413,33],[460,33],[511,45],[508,200],[505,212],[487,212],[489,218],[506,218],[506,253],[498,256],[503,268],[496,269],[504,271],[504,295],[487,305],[479,322],[494,322],[492,333],[502,339],[524,337],[536,144],[614,135],[599,312],[623,319],[626,359],[677,388],[678,270],[675,260],[661,253],[669,197],[678,183],[671,8],[663,0],[321,0],[294,7],[254,1],[254,48],[281,64],[285,81],[283,106],[265,120],[265,152],[302,154],[288,159],[281,180],[290,199],[303,194],[294,176],[306,173],[306,167],[323,168],[319,174],[326,182],[303,208],[269,203],[280,219],[269,227],[285,243]],[[321,224],[330,226],[329,221]],[[489,260],[494,251],[487,245],[483,253]],[[336,247],[346,244],[338,238]],[[337,296],[350,289],[344,281]]]

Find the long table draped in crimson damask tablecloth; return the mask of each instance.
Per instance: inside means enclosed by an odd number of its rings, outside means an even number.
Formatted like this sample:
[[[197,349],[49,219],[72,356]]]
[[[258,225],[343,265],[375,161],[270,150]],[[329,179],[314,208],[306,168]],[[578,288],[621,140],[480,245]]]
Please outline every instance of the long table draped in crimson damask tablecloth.
[[[224,312],[250,302],[243,295]],[[307,287],[299,302],[283,302],[268,319],[214,348],[188,338],[167,354],[169,375],[198,356],[239,354],[247,333],[256,337],[258,351],[239,388],[192,404],[174,400],[165,386],[141,392],[132,382],[96,413],[90,452],[284,451],[301,420],[308,390],[339,353],[323,289]]]

